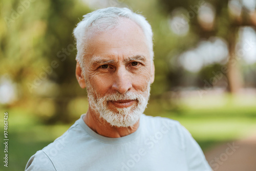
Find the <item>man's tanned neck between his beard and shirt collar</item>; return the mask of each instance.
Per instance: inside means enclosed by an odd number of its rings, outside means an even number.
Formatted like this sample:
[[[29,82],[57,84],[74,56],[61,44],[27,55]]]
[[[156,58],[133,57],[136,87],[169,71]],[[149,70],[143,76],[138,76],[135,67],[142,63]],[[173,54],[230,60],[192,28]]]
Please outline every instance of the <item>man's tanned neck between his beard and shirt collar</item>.
[[[104,137],[120,138],[134,133],[139,127],[139,121],[133,126],[129,127],[117,127],[112,126],[110,123],[100,117],[98,112],[92,110],[89,106],[89,110],[86,116],[83,117],[83,121],[92,129],[95,133]]]

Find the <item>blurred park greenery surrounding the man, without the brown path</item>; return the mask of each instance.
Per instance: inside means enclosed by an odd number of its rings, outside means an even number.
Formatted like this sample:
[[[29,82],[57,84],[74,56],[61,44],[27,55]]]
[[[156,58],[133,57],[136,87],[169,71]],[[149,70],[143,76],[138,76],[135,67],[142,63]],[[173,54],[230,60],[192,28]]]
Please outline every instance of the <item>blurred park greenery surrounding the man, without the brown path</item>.
[[[82,15],[110,6],[141,13],[153,28],[146,115],[178,120],[205,153],[256,135],[256,1],[2,0],[0,121],[2,130],[8,112],[9,167],[0,169],[24,170],[86,113],[72,31]]]

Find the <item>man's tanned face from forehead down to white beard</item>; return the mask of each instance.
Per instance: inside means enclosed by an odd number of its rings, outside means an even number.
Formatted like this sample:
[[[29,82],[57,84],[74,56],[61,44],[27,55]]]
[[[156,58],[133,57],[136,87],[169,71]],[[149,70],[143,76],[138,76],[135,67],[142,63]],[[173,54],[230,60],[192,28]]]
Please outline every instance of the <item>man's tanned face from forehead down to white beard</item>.
[[[90,108],[114,126],[132,126],[144,112],[154,80],[141,28],[129,19],[87,41],[84,78]]]

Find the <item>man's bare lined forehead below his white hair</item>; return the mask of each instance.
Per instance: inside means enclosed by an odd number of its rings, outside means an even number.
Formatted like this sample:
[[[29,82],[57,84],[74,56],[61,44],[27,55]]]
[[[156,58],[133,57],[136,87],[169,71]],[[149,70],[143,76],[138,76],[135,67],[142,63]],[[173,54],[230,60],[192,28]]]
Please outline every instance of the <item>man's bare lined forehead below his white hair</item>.
[[[146,60],[150,60],[145,35],[130,19],[122,18],[114,29],[90,34],[87,40],[86,60],[100,57],[125,60],[134,56],[143,56]]]

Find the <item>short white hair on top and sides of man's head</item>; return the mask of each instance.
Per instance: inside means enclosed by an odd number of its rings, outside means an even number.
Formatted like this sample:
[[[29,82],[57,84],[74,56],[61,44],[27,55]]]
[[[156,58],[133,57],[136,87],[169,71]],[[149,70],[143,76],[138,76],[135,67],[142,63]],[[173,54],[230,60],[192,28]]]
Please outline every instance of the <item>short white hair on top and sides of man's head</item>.
[[[83,15],[81,22],[77,24],[73,34],[76,39],[77,55],[76,59],[82,63],[83,55],[86,53],[86,39],[90,37],[89,31],[107,31],[114,29],[118,25],[120,18],[129,18],[135,22],[144,32],[150,57],[153,60],[153,32],[151,25],[147,22],[144,16],[136,14],[127,8],[109,7],[98,9],[86,15]],[[81,66],[82,67],[82,66]]]

